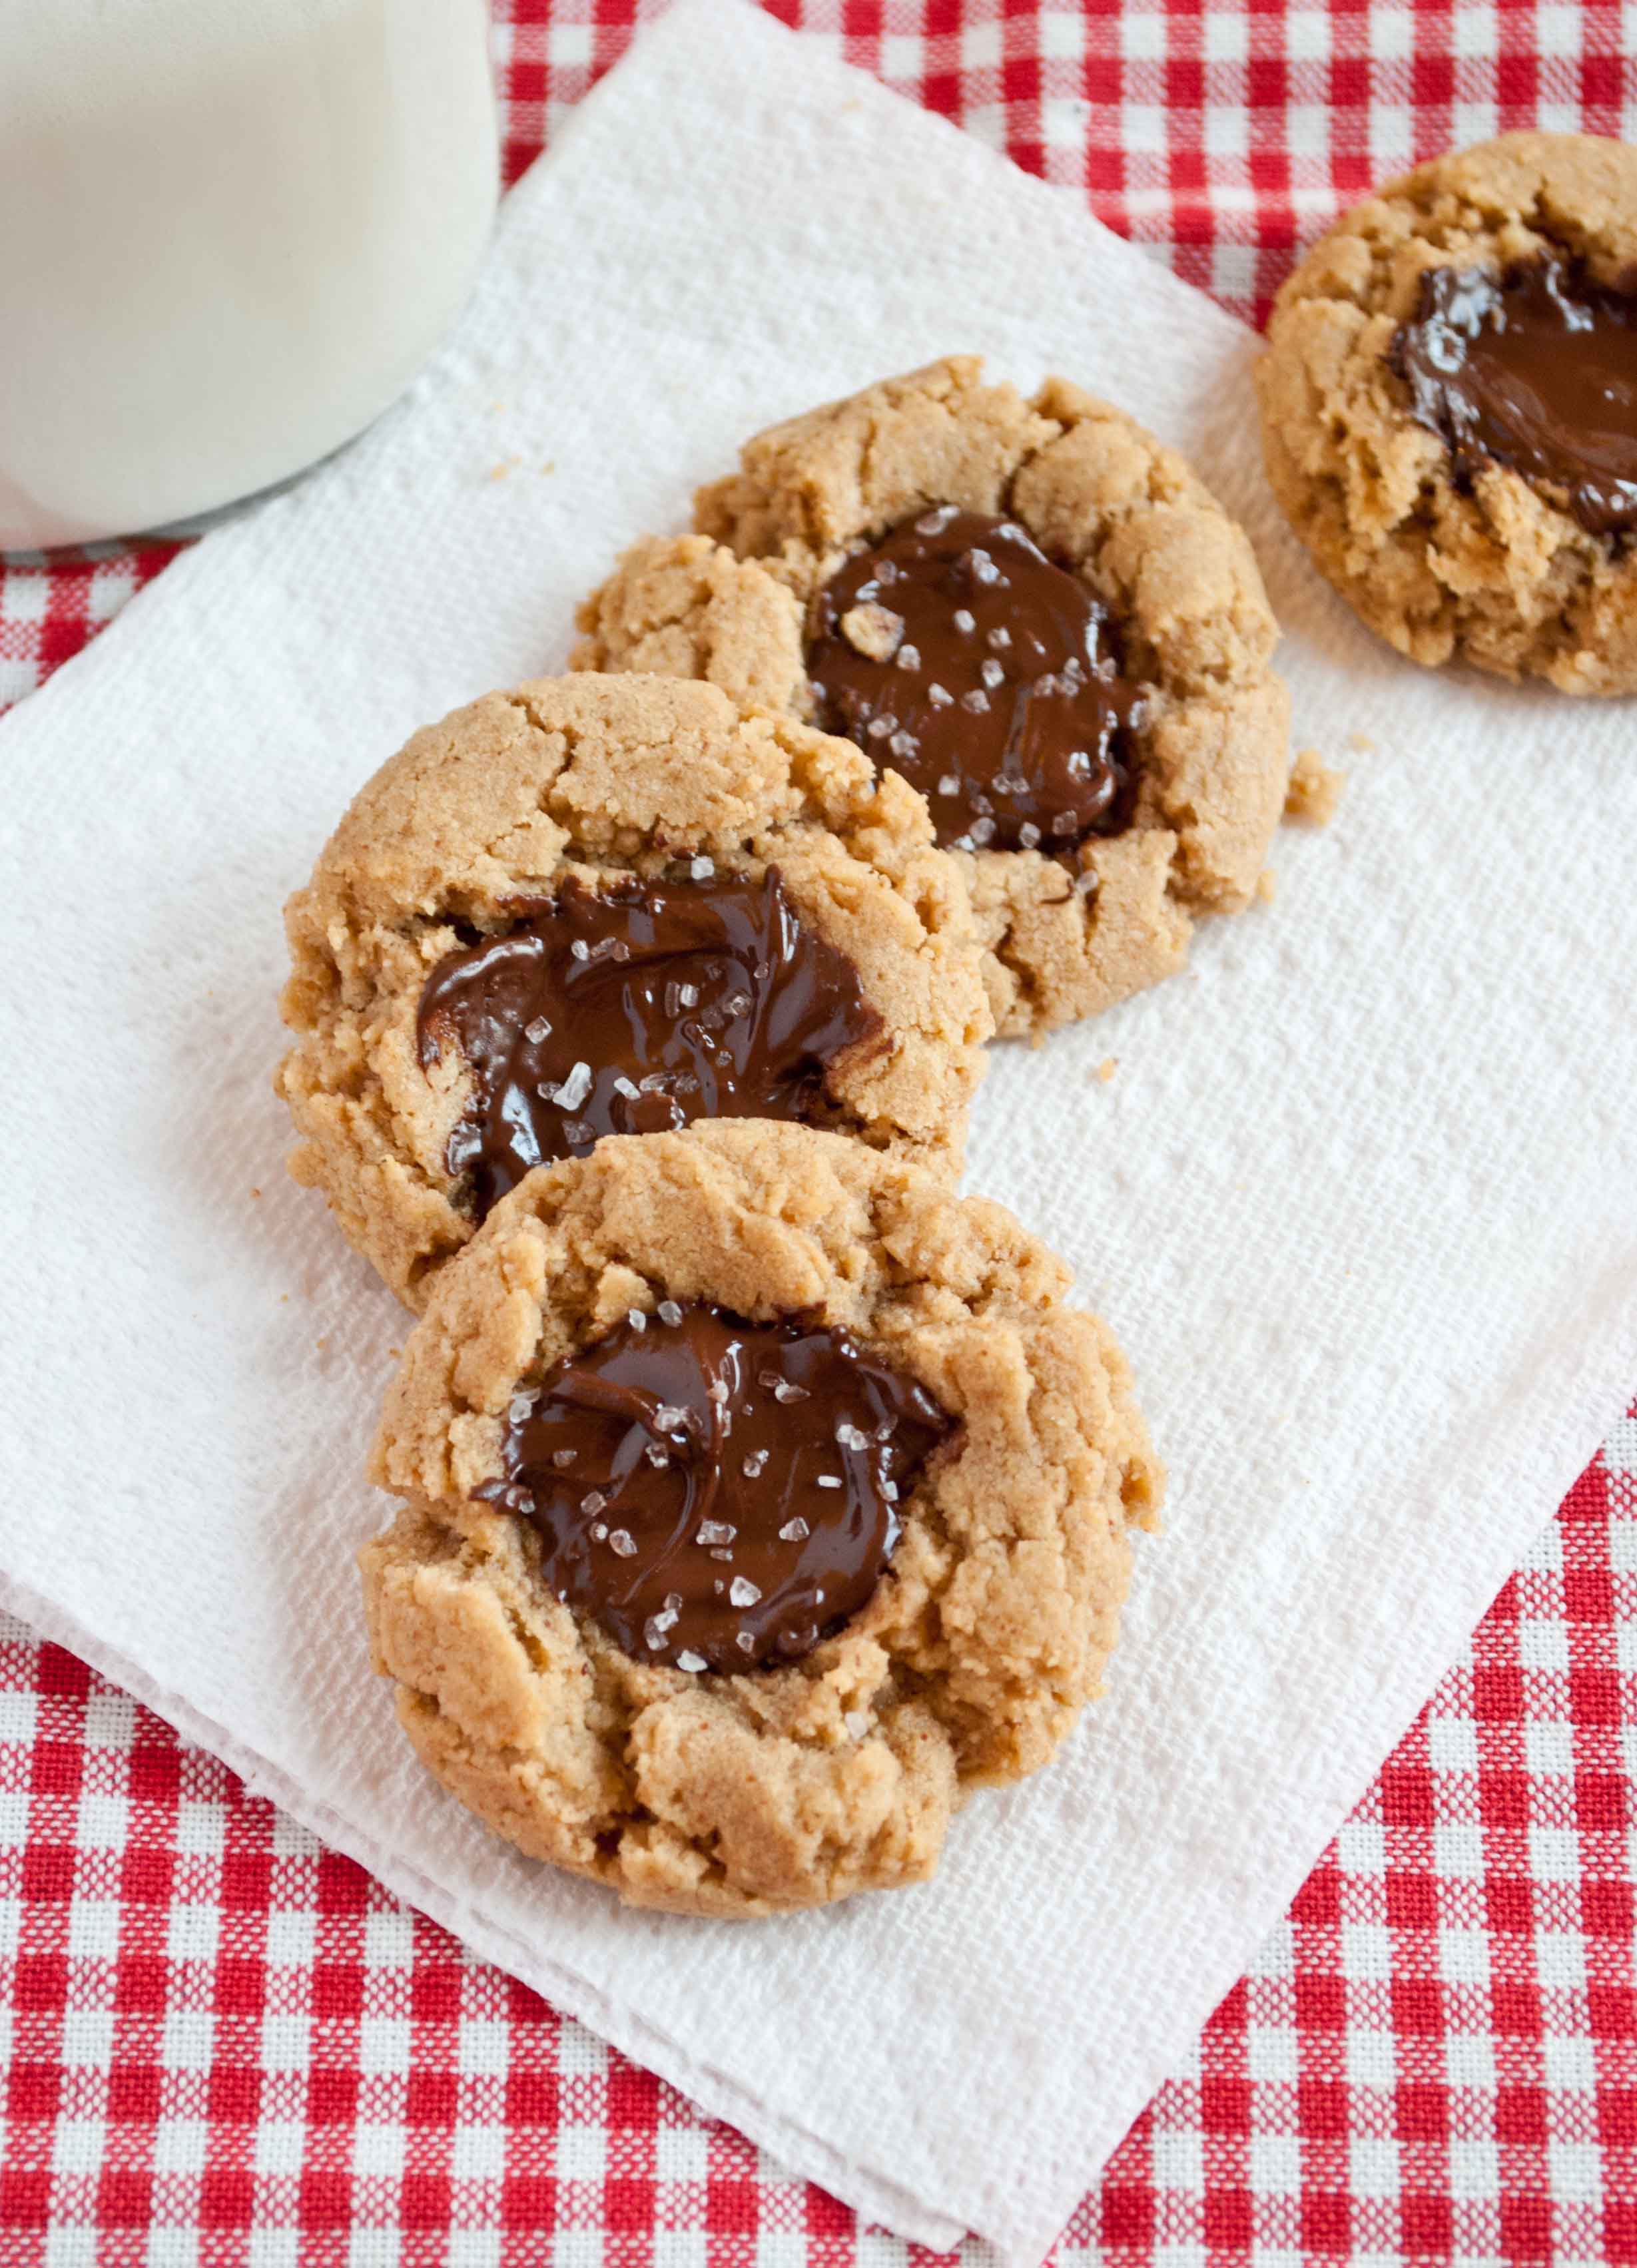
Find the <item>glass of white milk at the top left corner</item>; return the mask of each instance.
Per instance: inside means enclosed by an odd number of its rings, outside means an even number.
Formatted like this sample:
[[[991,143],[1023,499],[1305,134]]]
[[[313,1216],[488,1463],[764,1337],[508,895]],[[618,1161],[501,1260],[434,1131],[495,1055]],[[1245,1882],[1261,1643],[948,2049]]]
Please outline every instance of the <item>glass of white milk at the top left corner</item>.
[[[340,447],[460,306],[497,186],[485,0],[0,0],[0,549]]]

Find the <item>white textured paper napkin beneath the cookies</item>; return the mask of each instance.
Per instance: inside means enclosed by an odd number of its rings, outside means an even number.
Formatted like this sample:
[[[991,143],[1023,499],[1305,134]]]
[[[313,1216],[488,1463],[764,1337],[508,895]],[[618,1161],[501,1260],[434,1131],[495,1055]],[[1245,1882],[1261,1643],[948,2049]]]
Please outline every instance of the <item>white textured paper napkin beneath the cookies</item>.
[[[279,903],[415,723],[565,658],[744,433],[957,347],[1193,451],[1299,737],[1374,746],[1272,909],[979,1098],[970,1184],[1079,1266],[1174,1476],[1106,1701],[927,1889],[621,1914],[424,1780],[365,1672],[358,1470],[406,1320],[281,1173]],[[1068,195],[694,0],[515,191],[410,399],[0,730],[0,1601],[866,2216],[1016,2263],[1637,1377],[1632,710],[1358,631],[1265,494],[1252,354]]]

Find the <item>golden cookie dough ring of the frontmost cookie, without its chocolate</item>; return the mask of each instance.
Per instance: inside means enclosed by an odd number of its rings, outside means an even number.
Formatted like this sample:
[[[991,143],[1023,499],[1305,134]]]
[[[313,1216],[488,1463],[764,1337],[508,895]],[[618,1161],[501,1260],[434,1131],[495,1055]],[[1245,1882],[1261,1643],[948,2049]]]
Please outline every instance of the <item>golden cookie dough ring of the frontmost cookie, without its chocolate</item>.
[[[533,1173],[442,1270],[372,1474],[376,1667],[422,1762],[533,1857],[635,1905],[775,1914],[925,1880],[966,1792],[1047,1762],[1100,1685],[1163,1474],[1120,1349],[995,1204],[766,1120]],[[624,1653],[481,1501],[519,1386],[635,1306],[846,1329],[955,1420],[868,1603],[789,1667]]]

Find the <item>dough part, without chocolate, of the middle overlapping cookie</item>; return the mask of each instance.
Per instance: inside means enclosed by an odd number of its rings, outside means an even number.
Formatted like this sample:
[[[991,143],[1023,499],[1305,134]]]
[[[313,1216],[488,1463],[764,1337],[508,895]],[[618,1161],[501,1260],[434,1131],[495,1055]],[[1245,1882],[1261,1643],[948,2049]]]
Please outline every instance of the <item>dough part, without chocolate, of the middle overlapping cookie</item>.
[[[542,678],[417,733],[286,909],[290,1170],[410,1306],[476,1227],[447,1157],[472,1070],[458,1046],[424,1061],[417,1041],[431,971],[510,928],[519,898],[678,862],[778,871],[880,1018],[830,1057],[816,1107],[877,1150],[959,1170],[989,1009],[966,889],[923,801],[850,742],[737,714],[710,685]]]

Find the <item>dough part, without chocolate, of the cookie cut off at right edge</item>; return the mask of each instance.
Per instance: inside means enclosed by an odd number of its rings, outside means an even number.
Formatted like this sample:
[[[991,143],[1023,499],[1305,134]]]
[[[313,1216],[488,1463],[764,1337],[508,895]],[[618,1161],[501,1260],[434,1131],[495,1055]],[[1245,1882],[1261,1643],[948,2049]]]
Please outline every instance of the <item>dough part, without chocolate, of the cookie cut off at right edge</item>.
[[[1258,370],[1267,479],[1315,562],[1417,662],[1451,658],[1571,694],[1637,689],[1637,551],[1551,483],[1467,476],[1390,367],[1428,270],[1558,256],[1598,284],[1637,263],[1637,150],[1503,134],[1367,197],[1274,302]]]

